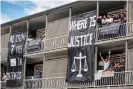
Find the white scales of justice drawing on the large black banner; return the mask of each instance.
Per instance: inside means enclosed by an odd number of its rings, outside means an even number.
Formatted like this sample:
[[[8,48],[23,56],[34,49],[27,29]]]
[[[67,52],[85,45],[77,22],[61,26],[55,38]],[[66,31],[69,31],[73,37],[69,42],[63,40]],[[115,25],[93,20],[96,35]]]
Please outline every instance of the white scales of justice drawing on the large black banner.
[[[79,65],[76,65],[76,60],[79,61]],[[84,60],[84,65],[82,66],[82,61],[81,60]],[[79,66],[79,70],[78,70],[78,74],[77,74],[77,77],[82,77],[82,73],[81,71],[88,71],[88,65],[87,65],[87,61],[86,61],[86,56],[82,56],[82,53],[80,52],[79,53],[79,56],[78,57],[74,57],[74,61],[73,61],[73,64],[72,64],[72,68],[71,68],[71,71],[72,72],[75,72],[77,71],[77,67]],[[83,68],[82,68],[83,67]]]

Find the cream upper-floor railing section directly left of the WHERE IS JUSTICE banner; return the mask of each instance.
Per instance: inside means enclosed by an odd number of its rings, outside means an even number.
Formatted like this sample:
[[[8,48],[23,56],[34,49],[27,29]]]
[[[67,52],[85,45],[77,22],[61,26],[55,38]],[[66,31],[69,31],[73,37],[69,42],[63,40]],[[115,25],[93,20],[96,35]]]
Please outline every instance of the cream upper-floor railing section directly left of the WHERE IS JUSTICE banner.
[[[51,51],[67,47],[68,36],[60,36],[55,38],[46,39],[44,42],[45,51]]]

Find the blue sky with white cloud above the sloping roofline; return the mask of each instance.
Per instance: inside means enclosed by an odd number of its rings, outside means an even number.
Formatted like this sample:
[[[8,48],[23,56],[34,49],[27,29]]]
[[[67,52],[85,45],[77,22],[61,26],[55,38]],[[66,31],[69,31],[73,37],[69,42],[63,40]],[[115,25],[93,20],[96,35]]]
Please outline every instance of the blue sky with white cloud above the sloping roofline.
[[[2,0],[0,24],[76,0]]]

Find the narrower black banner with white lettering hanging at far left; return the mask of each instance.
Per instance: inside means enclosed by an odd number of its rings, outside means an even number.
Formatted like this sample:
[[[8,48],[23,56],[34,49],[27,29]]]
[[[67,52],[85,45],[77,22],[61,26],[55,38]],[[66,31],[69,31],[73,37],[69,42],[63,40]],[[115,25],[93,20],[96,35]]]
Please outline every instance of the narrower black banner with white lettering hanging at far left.
[[[6,87],[21,87],[24,72],[24,45],[26,31],[12,32],[8,42]]]

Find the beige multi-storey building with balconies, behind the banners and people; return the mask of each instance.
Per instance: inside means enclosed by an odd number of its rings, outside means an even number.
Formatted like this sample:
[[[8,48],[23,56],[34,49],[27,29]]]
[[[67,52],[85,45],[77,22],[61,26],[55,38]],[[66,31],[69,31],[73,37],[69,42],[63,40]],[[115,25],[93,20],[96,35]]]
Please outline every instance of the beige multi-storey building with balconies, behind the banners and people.
[[[100,69],[99,53],[106,55],[111,50],[111,58],[125,59],[125,71],[115,73],[117,77],[94,80],[91,83],[71,84],[65,82],[67,73],[67,44],[70,18],[89,11],[97,11],[97,16],[105,13],[119,13],[126,10],[126,34],[100,37],[100,28],[95,29],[94,74]],[[111,27],[110,27],[111,28]],[[112,27],[113,28],[113,27]],[[10,33],[27,31],[25,43],[25,88],[42,89],[133,89],[133,2],[131,1],[76,1],[44,12],[26,16],[1,24],[1,73],[6,72],[8,41]],[[38,40],[41,36],[41,41]],[[40,48],[30,49],[28,38],[41,42]],[[42,73],[35,78],[36,71]],[[123,75],[122,78],[120,78]],[[117,82],[116,82],[117,81]],[[123,81],[123,82],[121,82]],[[1,82],[4,87],[5,82]]]

